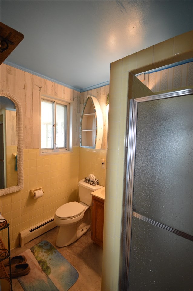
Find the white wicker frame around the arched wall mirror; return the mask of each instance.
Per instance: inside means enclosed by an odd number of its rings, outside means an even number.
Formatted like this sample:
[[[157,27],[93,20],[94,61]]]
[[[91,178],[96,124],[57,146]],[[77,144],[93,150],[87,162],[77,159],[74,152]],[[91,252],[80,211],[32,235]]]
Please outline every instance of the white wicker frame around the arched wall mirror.
[[[0,196],[20,191],[24,188],[23,173],[23,113],[19,100],[11,93],[0,90],[0,96],[7,97],[15,103],[16,107],[16,129],[17,129],[17,168],[18,168],[18,185],[0,189]]]

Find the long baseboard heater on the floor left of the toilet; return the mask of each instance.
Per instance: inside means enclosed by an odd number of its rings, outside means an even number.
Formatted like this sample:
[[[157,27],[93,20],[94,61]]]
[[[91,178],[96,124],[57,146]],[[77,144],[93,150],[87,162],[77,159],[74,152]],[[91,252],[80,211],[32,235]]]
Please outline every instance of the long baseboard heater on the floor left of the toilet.
[[[31,228],[22,230],[19,233],[19,244],[20,246],[24,246],[26,243],[35,239],[41,234],[47,232],[48,230],[56,227],[57,225],[54,222],[54,216],[50,217],[39,224],[32,226]]]

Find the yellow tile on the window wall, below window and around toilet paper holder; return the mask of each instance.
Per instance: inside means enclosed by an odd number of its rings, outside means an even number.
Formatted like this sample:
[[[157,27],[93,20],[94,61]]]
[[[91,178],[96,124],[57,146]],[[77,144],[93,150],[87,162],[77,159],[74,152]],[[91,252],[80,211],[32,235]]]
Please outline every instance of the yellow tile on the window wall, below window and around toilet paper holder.
[[[24,189],[0,197],[0,212],[10,224],[11,249],[19,245],[19,232],[54,216],[64,203],[78,201],[79,147],[73,153],[39,156],[39,149],[24,149]],[[42,187],[34,199],[31,189]],[[0,236],[7,245],[7,230]]]

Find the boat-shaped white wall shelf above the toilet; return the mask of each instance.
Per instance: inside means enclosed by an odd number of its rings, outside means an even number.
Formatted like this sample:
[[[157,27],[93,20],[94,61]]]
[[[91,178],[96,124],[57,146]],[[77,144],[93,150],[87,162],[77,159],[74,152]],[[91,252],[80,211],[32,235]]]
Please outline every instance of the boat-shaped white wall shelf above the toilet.
[[[100,149],[103,138],[103,114],[96,97],[88,95],[80,119],[80,147]]]

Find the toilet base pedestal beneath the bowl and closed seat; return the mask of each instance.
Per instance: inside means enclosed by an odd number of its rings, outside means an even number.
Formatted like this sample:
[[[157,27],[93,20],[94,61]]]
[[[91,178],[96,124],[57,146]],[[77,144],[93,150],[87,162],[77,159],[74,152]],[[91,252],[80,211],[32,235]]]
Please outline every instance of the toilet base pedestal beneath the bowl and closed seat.
[[[91,211],[88,208],[84,217],[76,224],[70,224],[67,226],[60,226],[56,246],[63,247],[74,243],[83,234],[85,234],[91,226]]]

